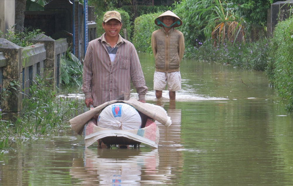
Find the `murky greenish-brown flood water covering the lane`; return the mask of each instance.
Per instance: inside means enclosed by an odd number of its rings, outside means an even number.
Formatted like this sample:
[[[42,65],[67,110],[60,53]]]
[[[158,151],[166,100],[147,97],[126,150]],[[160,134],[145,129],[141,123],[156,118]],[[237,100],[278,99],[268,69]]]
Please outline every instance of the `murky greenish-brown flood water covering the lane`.
[[[146,101],[172,120],[158,148],[85,148],[68,124],[1,155],[0,185],[293,185],[293,114],[263,72],[183,60],[176,102],[158,102],[153,57],[139,58]]]

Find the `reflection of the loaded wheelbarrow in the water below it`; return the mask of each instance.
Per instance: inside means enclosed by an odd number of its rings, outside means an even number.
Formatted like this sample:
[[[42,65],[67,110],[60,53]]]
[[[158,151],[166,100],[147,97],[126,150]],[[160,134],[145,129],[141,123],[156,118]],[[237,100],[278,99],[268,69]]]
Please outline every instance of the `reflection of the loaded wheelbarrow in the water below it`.
[[[163,184],[168,178],[158,166],[158,149],[86,148],[84,159],[74,160],[70,174],[82,180],[81,185]]]

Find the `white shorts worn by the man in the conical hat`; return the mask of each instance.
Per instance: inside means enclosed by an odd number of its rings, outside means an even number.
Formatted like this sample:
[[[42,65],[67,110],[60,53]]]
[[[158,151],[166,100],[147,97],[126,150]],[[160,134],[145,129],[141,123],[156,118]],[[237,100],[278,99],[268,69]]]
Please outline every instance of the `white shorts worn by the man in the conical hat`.
[[[157,72],[154,73],[154,90],[165,90],[168,84],[168,91],[181,90],[181,75],[178,72]]]

